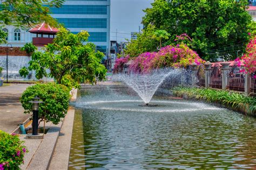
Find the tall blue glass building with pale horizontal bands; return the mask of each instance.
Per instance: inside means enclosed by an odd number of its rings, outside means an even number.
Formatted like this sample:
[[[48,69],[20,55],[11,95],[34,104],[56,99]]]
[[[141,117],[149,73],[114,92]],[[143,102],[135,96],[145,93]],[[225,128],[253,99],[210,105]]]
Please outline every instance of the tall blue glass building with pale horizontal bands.
[[[68,0],[61,8],[50,8],[52,17],[72,33],[89,32],[97,50],[110,49],[110,0]]]

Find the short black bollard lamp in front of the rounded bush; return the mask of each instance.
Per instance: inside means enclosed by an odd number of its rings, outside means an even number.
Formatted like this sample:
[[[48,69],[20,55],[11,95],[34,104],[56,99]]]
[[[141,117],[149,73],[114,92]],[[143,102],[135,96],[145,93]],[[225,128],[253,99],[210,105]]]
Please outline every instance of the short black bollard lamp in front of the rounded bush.
[[[42,101],[39,101],[39,97],[35,96],[33,98],[33,101],[30,101],[29,103],[33,103],[33,125],[32,125],[32,135],[38,135],[38,109],[39,109],[39,103],[44,103]]]

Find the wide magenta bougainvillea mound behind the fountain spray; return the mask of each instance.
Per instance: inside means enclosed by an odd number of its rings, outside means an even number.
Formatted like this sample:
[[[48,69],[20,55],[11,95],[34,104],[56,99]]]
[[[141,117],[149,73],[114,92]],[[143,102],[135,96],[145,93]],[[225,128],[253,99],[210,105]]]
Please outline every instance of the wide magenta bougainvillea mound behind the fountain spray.
[[[196,62],[197,65],[204,63],[199,55],[185,44],[178,44],[176,47],[166,46],[159,52],[143,53],[133,60],[130,69],[134,73],[146,73],[151,69],[164,67],[186,67]]]

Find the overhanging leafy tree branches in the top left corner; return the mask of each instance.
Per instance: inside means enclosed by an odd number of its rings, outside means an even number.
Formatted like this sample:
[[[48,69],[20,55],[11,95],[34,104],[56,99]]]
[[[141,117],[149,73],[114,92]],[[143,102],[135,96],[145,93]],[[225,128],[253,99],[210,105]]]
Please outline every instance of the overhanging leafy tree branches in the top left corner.
[[[21,26],[28,29],[32,25],[46,22],[57,26],[50,16],[49,7],[59,8],[64,0],[5,0],[0,4],[0,21],[4,25]],[[0,26],[0,44],[5,43],[6,34]]]

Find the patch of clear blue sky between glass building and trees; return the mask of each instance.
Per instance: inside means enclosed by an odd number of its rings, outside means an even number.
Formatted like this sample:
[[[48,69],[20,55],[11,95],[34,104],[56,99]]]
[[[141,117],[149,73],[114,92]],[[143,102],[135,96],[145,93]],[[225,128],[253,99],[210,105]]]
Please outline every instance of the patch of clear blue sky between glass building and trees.
[[[142,29],[142,11],[151,8],[154,0],[111,0],[110,5],[110,40],[125,41],[131,38],[131,32]]]

